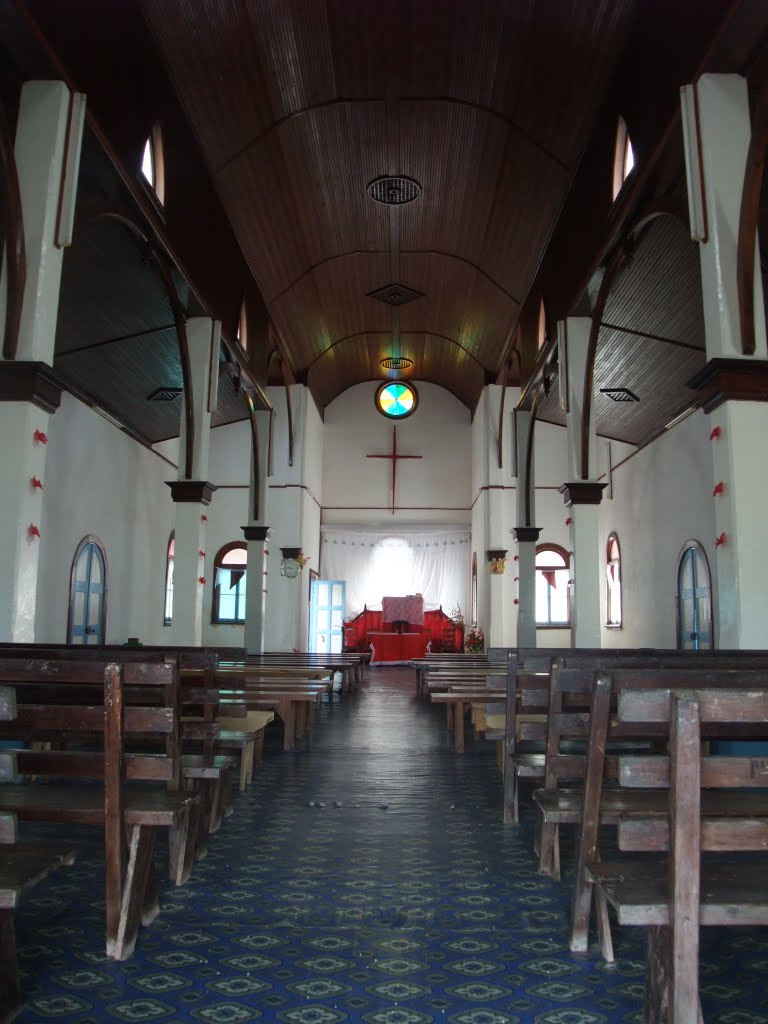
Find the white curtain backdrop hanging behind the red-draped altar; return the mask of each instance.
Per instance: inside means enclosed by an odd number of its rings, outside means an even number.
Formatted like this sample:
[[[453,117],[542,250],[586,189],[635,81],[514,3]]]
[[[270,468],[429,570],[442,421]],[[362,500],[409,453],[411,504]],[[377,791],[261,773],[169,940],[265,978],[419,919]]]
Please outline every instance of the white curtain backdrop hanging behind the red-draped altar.
[[[470,540],[467,529],[409,531],[324,527],[321,575],[345,580],[346,616],[382,597],[421,594],[424,607],[468,611]]]

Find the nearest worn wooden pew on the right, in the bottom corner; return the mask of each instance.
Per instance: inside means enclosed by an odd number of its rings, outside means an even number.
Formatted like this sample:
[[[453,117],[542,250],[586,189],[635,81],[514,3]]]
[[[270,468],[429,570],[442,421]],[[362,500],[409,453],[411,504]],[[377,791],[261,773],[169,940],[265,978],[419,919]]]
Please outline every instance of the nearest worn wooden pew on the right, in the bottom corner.
[[[669,851],[652,863],[591,863],[589,878],[615,908],[618,922],[648,928],[644,1024],[695,1024],[699,927],[768,925],[765,856],[728,859],[728,852],[768,849],[768,771],[762,758],[710,757],[701,740],[744,724],[768,726],[768,691],[628,692],[620,698],[622,722],[671,727],[670,757],[622,759],[622,782],[669,786],[669,814],[626,818],[620,846],[627,851]],[[734,792],[737,791],[737,792]],[[725,796],[724,813],[708,816],[713,795]],[[756,816],[755,810],[762,814]],[[701,854],[717,851],[717,861]]]

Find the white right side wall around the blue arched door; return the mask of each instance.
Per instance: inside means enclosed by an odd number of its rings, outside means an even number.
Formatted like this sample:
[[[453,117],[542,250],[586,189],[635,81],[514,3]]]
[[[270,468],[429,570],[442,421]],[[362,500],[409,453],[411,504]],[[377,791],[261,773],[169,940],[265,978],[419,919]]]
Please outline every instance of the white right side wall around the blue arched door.
[[[608,535],[618,536],[624,607],[621,630],[603,627],[604,647],[677,645],[677,563],[690,540],[702,545],[710,562],[717,623],[710,428],[707,416],[694,413],[613,473],[613,499],[600,506],[600,532],[603,558]],[[605,588],[601,601],[604,623]]]

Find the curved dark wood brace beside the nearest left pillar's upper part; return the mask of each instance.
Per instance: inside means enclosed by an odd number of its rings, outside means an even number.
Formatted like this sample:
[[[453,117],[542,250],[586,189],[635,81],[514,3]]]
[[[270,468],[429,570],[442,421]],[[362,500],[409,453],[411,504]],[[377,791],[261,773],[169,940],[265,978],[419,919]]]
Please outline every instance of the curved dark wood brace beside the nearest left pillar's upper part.
[[[3,328],[3,358],[15,359],[18,330],[22,325],[24,290],[27,285],[27,249],[24,239],[24,213],[13,139],[0,104],[0,242],[5,247],[7,297]],[[0,250],[0,256],[2,251]],[[2,260],[0,260],[2,262]]]

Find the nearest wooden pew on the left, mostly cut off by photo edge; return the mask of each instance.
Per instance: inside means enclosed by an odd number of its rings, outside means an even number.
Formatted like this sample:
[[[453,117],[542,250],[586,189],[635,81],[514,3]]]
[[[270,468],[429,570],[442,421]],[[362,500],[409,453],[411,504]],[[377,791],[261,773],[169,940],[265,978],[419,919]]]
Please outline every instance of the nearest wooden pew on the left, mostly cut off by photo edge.
[[[0,721],[15,717],[15,691],[0,688]],[[75,851],[68,847],[18,843],[16,816],[0,814],[0,1024],[9,1024],[22,1009],[13,913],[39,882],[74,862]]]

